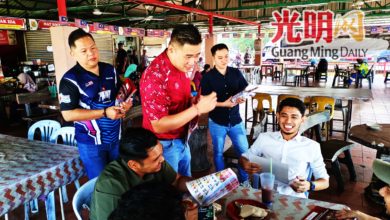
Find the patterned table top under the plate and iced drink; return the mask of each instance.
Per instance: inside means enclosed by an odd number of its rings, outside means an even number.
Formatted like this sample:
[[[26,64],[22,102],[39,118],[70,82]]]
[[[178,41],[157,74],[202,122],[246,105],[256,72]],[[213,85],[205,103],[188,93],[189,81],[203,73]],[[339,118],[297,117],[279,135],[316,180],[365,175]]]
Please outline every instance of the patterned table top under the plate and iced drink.
[[[236,199],[253,199],[261,202],[261,191],[240,186],[233,190],[233,192],[228,194],[225,198],[226,201],[224,201],[223,204],[224,208],[227,204]],[[335,210],[341,210],[346,207],[342,204],[304,199],[275,193],[271,219],[302,219],[315,206],[321,206]]]

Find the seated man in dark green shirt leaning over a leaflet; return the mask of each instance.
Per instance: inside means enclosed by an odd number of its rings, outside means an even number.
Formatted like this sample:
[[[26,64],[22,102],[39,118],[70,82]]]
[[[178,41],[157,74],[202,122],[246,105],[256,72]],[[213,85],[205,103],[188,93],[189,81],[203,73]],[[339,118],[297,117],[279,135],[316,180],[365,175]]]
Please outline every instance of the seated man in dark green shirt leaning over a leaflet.
[[[149,130],[128,129],[120,143],[120,158],[108,164],[96,181],[90,219],[106,220],[122,194],[142,183],[163,182],[187,191],[185,183],[190,178],[177,174],[165,162],[162,151],[162,145]]]

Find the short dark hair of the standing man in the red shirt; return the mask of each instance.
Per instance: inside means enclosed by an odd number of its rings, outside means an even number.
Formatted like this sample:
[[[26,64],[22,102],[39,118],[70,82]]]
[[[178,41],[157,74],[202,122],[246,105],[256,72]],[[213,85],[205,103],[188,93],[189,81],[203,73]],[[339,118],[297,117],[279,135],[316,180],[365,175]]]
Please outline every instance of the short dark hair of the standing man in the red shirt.
[[[198,28],[192,24],[177,25],[172,31],[170,43],[178,43],[180,46],[199,45],[202,43],[202,36]]]

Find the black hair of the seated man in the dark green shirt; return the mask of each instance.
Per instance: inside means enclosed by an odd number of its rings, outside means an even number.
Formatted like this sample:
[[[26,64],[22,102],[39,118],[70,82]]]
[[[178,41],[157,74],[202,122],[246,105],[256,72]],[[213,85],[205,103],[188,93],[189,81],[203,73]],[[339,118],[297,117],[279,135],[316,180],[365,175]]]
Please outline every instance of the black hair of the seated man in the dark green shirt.
[[[148,150],[158,143],[153,132],[145,128],[128,128],[119,144],[119,156],[125,161],[142,161],[148,157]]]

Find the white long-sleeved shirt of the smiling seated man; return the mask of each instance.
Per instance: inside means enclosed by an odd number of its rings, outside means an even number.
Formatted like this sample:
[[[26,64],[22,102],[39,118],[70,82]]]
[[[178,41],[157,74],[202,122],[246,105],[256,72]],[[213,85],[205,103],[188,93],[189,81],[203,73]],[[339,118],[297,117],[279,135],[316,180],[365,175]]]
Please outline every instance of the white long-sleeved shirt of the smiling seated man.
[[[251,155],[272,158],[287,164],[288,179],[293,181],[297,176],[307,178],[310,170],[315,179],[328,179],[320,144],[304,136],[297,135],[290,141],[283,139],[280,132],[261,133],[248,152],[242,156],[250,158]],[[306,198],[304,193],[295,192],[288,184],[275,181],[280,194]]]

